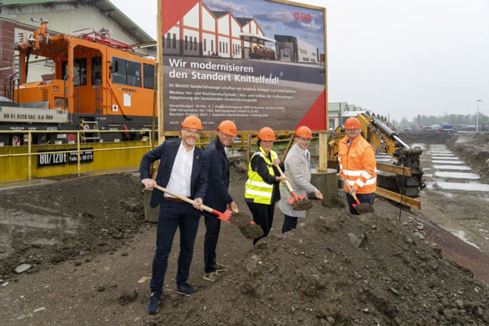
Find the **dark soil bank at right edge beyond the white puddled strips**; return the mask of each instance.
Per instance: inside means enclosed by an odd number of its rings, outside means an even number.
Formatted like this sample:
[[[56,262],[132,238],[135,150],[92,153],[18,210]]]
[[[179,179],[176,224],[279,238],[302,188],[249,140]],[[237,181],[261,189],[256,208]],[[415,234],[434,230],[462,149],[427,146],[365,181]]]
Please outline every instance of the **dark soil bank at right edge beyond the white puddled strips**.
[[[489,183],[489,135],[457,135],[448,146],[480,175],[481,182]]]

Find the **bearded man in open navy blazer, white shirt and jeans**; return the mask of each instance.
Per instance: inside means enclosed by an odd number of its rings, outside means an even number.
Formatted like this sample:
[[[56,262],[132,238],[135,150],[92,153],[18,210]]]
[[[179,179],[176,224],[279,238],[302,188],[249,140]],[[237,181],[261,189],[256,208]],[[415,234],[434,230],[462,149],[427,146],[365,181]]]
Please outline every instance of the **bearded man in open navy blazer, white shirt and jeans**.
[[[178,254],[177,293],[190,296],[196,291],[187,280],[194,253],[194,242],[199,228],[203,198],[207,191],[208,161],[203,151],[195,146],[202,130],[200,119],[190,115],[181,125],[181,141],[165,140],[141,159],[139,172],[146,189],[157,184],[168,190],[193,199],[193,207],[181,199],[153,189],[150,205],[160,205],[156,229],[156,251],[151,277],[151,297],[147,312],[159,310],[168,256],[173,238],[180,229],[180,253]],[[156,181],[151,179],[151,163],[160,160]]]

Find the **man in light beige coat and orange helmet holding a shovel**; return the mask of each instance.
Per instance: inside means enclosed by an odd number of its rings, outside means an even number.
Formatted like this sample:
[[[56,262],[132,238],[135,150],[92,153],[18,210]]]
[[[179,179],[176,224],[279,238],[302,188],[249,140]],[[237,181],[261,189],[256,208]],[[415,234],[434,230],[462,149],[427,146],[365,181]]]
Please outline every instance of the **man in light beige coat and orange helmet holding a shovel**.
[[[301,126],[295,131],[296,143],[290,149],[285,159],[285,176],[289,179],[290,186],[295,195],[302,196],[314,193],[317,198],[323,195],[311,185],[311,153],[308,147],[311,144],[311,129]],[[306,217],[305,211],[294,211],[289,204],[290,192],[285,184],[280,185],[280,201],[278,207],[284,213],[284,225],[282,233],[286,233],[297,227],[297,217]]]

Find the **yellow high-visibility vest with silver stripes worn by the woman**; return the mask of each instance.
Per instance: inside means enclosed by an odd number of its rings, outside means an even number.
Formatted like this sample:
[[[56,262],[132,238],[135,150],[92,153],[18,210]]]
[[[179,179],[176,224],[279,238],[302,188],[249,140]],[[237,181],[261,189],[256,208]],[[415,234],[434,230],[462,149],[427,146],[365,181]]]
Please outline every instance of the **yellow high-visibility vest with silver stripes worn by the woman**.
[[[273,160],[278,159],[277,153],[274,151],[270,151],[270,156],[271,156],[271,161],[270,161],[267,155],[265,155],[265,152],[263,152],[263,149],[260,147],[260,152],[254,152],[251,159],[253,159],[255,155],[262,156],[262,158],[265,160],[265,163],[267,163],[268,173],[271,175],[275,175],[273,172],[272,162]],[[244,198],[253,199],[253,202],[255,203],[269,205],[272,201],[272,193],[273,193],[273,185],[263,181],[260,174],[258,174],[257,172],[251,169],[251,160],[249,160],[248,180],[244,185]]]

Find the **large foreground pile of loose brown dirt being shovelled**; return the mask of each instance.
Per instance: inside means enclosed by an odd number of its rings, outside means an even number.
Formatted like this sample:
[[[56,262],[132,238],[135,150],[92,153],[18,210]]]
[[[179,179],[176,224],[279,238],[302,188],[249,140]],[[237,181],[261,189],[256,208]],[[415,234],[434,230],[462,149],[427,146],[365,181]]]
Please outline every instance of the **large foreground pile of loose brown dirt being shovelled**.
[[[194,304],[146,324],[489,324],[487,286],[395,214],[324,213],[260,240]]]

